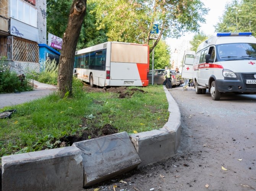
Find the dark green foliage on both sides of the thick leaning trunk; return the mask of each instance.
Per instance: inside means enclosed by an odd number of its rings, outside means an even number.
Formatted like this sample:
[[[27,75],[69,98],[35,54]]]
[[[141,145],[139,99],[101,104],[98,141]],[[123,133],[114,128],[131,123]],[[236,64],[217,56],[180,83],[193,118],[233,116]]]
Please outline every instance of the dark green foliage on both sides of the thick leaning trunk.
[[[47,31],[63,38],[68,24],[68,17],[72,0],[47,0]],[[90,11],[95,4],[87,2],[86,15],[79,35],[77,49],[83,49],[92,45],[107,41],[106,30],[96,30],[95,15]],[[58,27],[57,27],[58,26]]]

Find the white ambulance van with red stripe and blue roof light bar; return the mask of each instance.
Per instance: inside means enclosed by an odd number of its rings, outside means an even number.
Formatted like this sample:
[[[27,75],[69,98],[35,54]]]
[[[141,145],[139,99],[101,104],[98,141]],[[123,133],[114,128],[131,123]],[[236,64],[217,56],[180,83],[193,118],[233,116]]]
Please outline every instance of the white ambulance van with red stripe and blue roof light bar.
[[[251,32],[217,33],[201,43],[193,62],[196,94],[256,94],[256,38]]]

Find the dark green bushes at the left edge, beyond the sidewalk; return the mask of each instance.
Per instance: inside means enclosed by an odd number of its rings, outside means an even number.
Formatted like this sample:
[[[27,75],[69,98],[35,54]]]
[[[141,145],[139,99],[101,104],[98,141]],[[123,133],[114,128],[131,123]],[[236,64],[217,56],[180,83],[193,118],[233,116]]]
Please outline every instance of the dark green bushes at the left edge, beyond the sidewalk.
[[[1,92],[23,92],[30,91],[33,87],[29,84],[29,79],[25,76],[18,76],[15,71],[10,71],[5,58],[0,59],[0,93]]]

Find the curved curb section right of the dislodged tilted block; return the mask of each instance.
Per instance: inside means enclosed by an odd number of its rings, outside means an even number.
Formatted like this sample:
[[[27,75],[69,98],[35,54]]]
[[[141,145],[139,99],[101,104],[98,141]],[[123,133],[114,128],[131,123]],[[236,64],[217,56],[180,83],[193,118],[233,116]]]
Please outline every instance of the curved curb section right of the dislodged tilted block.
[[[141,159],[138,168],[173,156],[180,144],[180,109],[167,88],[163,88],[169,104],[170,115],[167,123],[158,130],[130,135]]]

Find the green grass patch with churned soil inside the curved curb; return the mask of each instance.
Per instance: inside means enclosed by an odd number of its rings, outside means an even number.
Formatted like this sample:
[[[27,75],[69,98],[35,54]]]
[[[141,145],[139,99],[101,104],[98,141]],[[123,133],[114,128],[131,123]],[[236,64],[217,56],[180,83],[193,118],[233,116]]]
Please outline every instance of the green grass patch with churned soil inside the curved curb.
[[[114,132],[134,133],[159,129],[169,117],[162,86],[126,87],[120,92],[88,92],[73,82],[73,98],[53,93],[17,105],[10,119],[0,120],[0,156],[69,146],[71,138],[91,139]],[[97,89],[96,89],[97,90]],[[126,94],[127,95],[127,94]],[[13,109],[2,108],[0,111]]]

